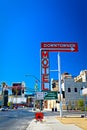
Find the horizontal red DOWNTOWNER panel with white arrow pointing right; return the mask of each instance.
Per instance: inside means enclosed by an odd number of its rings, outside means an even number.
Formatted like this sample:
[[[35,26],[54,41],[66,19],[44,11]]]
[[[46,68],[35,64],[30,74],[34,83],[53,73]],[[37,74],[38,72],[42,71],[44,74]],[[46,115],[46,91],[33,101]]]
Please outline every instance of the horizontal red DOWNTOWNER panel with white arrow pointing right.
[[[50,52],[77,52],[77,42],[42,42],[41,49]]]

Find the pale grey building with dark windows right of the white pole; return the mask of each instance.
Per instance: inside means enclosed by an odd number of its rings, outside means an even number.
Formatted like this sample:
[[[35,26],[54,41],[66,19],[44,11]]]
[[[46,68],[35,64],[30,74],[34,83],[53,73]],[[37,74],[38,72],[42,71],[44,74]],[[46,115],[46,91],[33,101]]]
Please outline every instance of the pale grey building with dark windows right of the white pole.
[[[65,106],[68,106],[69,109],[76,108],[77,102],[80,99],[84,99],[81,95],[81,90],[83,87],[87,87],[87,82],[75,82],[73,78],[64,79],[62,84],[65,89]]]

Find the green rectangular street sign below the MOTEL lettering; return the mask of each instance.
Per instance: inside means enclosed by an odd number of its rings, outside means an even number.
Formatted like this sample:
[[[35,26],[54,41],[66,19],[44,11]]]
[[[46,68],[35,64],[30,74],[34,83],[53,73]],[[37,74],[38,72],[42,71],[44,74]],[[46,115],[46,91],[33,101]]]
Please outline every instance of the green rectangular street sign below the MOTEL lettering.
[[[55,91],[44,92],[44,100],[57,100],[58,94]]]

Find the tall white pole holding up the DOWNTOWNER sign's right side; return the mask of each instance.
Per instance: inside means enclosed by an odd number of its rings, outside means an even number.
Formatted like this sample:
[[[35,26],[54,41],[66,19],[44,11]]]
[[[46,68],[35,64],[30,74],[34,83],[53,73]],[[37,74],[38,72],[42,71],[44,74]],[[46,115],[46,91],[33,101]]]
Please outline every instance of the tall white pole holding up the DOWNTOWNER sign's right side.
[[[58,77],[59,77],[59,91],[60,91],[60,117],[62,117],[62,89],[61,89],[61,70],[60,70],[60,53],[58,53]]]

